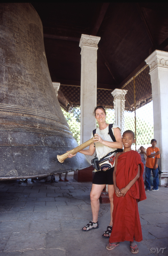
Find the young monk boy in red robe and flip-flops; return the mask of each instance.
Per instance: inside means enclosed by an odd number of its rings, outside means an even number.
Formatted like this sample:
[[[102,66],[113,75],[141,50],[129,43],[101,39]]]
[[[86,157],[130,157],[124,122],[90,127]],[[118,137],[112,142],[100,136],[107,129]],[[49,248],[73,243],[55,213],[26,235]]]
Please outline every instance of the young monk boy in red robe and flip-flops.
[[[121,241],[129,241],[131,252],[138,253],[135,241],[143,240],[137,203],[147,197],[143,181],[144,165],[140,154],[131,150],[134,138],[132,131],[125,131],[122,138],[124,151],[116,154],[113,172],[113,229],[107,250],[113,250]]]

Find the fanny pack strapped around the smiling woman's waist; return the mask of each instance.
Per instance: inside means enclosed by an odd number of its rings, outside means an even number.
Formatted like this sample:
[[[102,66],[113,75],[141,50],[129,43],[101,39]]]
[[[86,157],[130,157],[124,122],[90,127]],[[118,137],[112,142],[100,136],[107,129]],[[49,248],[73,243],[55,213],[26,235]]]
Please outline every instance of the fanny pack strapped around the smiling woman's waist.
[[[112,155],[113,154],[113,155]],[[91,160],[92,166],[95,168],[96,171],[106,171],[114,166],[115,163],[115,155],[116,150],[108,153],[105,157],[102,157],[99,161],[98,158],[93,158]],[[110,156],[109,158],[107,158]]]

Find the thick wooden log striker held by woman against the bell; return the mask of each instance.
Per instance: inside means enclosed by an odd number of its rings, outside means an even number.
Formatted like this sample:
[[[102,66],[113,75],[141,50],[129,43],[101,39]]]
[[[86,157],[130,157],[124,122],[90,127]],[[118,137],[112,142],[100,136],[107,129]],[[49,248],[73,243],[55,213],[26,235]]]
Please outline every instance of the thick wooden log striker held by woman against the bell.
[[[93,137],[94,138],[94,137]],[[76,153],[78,153],[80,150],[83,150],[85,147],[90,146],[92,143],[94,143],[95,141],[93,141],[93,138],[87,140],[86,142],[82,143],[81,145],[69,150],[68,152],[66,152],[63,155],[57,155],[57,159],[60,163],[63,163],[65,159],[68,158],[69,154],[75,155]]]

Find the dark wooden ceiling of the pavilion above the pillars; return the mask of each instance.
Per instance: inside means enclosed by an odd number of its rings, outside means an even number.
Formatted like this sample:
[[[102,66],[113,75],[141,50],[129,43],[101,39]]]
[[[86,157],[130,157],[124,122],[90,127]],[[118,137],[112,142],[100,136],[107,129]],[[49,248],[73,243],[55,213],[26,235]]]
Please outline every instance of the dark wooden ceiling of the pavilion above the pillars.
[[[97,50],[97,103],[110,108],[113,108],[111,92],[115,88],[122,88],[139,73],[154,50],[168,51],[167,3],[31,4],[43,24],[52,82],[60,83],[60,93],[69,102],[67,109],[80,105],[81,34],[101,37]],[[148,73],[139,74],[136,86],[140,91],[139,105],[152,99]],[[75,96],[74,90],[78,91]],[[104,92],[111,97],[111,103],[101,101],[99,92],[101,96]],[[128,110],[132,104],[130,100]]]

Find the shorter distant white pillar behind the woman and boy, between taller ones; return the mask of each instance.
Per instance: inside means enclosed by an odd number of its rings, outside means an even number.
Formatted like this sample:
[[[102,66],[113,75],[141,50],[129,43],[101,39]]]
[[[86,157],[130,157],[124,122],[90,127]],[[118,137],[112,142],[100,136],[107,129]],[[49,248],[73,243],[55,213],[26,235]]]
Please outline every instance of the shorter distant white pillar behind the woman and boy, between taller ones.
[[[115,123],[121,128],[121,134],[123,134],[124,127],[124,111],[125,111],[125,94],[127,90],[115,89],[111,93],[114,97],[114,110],[115,110]]]

